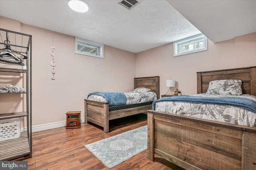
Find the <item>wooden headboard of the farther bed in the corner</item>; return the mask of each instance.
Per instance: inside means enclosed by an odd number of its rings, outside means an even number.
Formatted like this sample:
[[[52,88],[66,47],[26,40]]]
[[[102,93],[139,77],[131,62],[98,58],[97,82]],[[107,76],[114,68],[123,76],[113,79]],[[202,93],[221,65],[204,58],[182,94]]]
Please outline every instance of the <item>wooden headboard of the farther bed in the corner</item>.
[[[152,90],[160,98],[159,76],[134,78],[134,88],[145,87]]]

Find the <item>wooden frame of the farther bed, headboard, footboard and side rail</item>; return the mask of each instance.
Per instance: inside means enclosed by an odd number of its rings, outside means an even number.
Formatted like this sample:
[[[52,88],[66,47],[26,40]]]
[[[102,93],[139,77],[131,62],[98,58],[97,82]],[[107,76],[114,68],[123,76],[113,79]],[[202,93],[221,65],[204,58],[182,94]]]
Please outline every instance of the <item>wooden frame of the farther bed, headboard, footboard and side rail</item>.
[[[135,88],[149,88],[152,92],[155,92],[157,98],[160,96],[159,76],[154,77],[142,77],[134,78]],[[108,102],[100,102],[95,100],[84,100],[84,117],[85,123],[88,121],[103,127],[104,133],[109,132],[109,121],[135,115],[139,113],[145,113],[148,109],[152,109],[152,104],[146,106],[132,107],[128,109],[121,109],[115,111],[109,111]]]

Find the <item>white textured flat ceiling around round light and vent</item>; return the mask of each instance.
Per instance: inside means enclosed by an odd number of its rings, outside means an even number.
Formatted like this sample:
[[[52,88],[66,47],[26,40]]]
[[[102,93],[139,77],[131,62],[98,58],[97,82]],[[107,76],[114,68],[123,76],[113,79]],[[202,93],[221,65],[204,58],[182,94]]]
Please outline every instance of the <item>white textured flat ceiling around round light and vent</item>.
[[[84,0],[86,13],[68,0],[0,0],[0,16],[138,53],[199,34],[166,0],[143,0],[128,10],[119,0]]]

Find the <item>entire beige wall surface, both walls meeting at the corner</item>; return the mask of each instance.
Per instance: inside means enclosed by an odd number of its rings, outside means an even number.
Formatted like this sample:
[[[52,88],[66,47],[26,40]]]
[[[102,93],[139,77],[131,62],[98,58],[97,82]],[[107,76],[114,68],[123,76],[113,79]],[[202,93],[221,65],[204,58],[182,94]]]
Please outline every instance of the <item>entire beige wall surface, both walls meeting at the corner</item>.
[[[160,76],[161,94],[168,90],[166,79],[172,78],[183,94],[195,94],[198,71],[256,66],[256,33],[215,44],[208,40],[207,51],[178,57],[173,57],[172,43],[137,54],[105,45],[104,59],[100,59],[75,54],[75,38],[69,35],[3,17],[0,27],[32,35],[33,126],[65,121],[67,111],[82,111],[84,117],[84,99],[88,93],[131,91],[134,77]],[[56,80],[51,80],[52,37],[56,47]],[[0,84],[3,80],[1,77]],[[16,78],[12,83],[20,81]],[[23,108],[23,103],[18,103],[21,95],[18,99],[3,96],[0,113]]]

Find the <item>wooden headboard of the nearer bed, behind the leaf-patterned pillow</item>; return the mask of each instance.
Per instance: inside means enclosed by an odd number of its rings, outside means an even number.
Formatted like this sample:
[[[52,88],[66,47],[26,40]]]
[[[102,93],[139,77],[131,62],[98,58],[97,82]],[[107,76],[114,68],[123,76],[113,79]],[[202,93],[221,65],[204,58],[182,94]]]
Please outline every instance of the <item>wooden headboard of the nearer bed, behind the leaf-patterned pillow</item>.
[[[256,66],[196,72],[197,93],[206,93],[209,82],[213,80],[238,79],[242,80],[243,94],[256,96]]]

